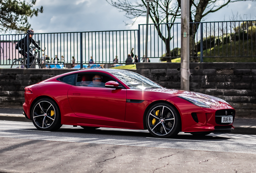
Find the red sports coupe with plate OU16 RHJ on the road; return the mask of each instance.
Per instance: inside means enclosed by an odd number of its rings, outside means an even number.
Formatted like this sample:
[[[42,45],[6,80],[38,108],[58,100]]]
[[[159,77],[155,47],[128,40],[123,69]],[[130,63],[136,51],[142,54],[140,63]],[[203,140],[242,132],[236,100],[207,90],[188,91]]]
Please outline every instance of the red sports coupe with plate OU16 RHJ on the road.
[[[155,137],[233,130],[235,109],[217,97],[166,89],[135,72],[78,70],[25,88],[25,116],[43,131],[62,125],[148,129]]]

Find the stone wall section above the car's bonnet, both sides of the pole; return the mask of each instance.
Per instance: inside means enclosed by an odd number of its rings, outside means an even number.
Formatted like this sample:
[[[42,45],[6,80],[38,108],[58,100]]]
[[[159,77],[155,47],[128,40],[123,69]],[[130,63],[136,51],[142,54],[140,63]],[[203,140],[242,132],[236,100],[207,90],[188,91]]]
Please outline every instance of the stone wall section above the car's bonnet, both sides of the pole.
[[[138,63],[136,72],[169,89],[180,89],[180,63]],[[190,63],[190,91],[219,97],[238,117],[256,118],[256,63]]]

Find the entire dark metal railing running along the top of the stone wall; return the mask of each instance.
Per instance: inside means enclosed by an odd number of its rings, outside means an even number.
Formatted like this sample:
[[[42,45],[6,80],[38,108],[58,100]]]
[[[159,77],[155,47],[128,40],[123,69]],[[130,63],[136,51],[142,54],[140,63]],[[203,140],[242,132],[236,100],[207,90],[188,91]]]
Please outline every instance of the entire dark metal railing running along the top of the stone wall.
[[[190,28],[194,28],[190,34],[190,58],[198,58],[203,62],[204,58],[256,57],[255,20],[198,22],[190,23]],[[149,24],[148,58],[179,58],[180,31],[180,23]],[[0,66],[10,66],[15,60],[22,58],[15,47],[18,40],[26,35],[0,35]],[[45,52],[39,55],[41,58],[47,55],[50,65],[63,64],[68,68],[76,64],[90,64],[91,57],[95,64],[122,64],[132,48],[139,62],[142,62],[145,60],[145,38],[146,24],[138,25],[138,30],[33,35],[37,44],[45,48]],[[32,55],[34,54],[32,51]],[[118,61],[115,60],[116,57]]]

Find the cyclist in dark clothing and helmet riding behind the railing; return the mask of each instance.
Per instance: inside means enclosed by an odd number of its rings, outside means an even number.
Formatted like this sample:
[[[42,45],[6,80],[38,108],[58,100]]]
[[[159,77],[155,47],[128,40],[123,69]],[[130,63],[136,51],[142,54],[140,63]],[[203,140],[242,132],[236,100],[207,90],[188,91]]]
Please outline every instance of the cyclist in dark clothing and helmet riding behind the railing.
[[[23,57],[25,57],[25,58],[27,58],[27,54],[28,54],[27,53],[27,36],[29,36],[29,45],[32,42],[36,48],[41,50],[40,46],[38,46],[37,43],[35,42],[35,40],[32,38],[33,35],[34,35],[33,30],[31,30],[31,29],[27,30],[27,35],[24,38],[22,38],[21,40],[19,40],[19,42],[16,44],[16,49],[19,49],[19,53],[22,54]],[[42,51],[44,51],[44,50],[42,50]],[[29,48],[29,62],[31,63],[34,59],[35,59],[35,56],[33,56],[32,52],[30,51],[30,48]],[[26,60],[26,64],[27,64],[27,60]]]

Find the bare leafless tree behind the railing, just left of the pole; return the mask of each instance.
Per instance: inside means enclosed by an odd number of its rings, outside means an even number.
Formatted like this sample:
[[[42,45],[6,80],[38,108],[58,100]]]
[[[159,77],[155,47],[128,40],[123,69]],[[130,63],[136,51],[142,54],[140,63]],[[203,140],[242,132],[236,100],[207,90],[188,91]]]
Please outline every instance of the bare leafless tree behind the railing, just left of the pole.
[[[118,8],[122,12],[126,12],[125,16],[127,18],[138,18],[139,16],[147,15],[147,3],[145,0],[130,2],[129,0],[106,0],[111,6]],[[180,6],[175,0],[154,0],[155,2],[150,3],[149,17],[155,24],[155,28],[159,37],[166,44],[166,54],[165,57],[169,57],[171,54],[170,41],[171,37],[171,27],[177,17],[180,17]],[[166,36],[161,32],[161,23],[171,23],[166,24]],[[171,58],[166,58],[167,62],[171,62]]]

